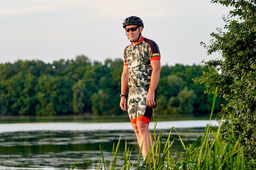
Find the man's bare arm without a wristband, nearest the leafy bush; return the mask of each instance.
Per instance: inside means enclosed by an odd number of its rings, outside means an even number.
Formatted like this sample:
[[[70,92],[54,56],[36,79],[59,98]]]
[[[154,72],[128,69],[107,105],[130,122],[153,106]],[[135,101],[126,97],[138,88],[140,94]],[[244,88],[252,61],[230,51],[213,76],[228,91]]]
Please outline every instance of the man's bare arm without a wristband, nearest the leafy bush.
[[[160,78],[161,64],[159,60],[152,60],[150,63],[153,71],[151,73],[150,86],[148,89],[146,104],[149,107],[153,107],[155,106],[155,89],[157,88]]]

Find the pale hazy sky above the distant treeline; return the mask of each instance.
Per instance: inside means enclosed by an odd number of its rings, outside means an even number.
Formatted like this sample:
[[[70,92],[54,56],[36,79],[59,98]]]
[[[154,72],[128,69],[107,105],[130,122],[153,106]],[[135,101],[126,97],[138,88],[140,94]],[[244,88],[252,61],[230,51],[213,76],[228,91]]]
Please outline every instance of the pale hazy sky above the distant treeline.
[[[0,63],[123,59],[130,41],[122,23],[135,15],[162,65],[200,64],[218,57],[200,42],[210,44],[230,10],[211,0],[0,0]]]

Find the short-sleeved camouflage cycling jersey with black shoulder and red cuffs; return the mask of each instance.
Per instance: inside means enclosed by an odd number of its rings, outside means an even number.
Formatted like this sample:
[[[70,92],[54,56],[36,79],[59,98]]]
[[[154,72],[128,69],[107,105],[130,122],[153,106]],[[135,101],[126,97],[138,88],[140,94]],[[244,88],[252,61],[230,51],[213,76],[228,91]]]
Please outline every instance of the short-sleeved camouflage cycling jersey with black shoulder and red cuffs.
[[[124,50],[124,65],[128,66],[128,86],[136,88],[150,84],[152,67],[150,61],[160,60],[157,44],[147,38],[133,46],[130,44]]]

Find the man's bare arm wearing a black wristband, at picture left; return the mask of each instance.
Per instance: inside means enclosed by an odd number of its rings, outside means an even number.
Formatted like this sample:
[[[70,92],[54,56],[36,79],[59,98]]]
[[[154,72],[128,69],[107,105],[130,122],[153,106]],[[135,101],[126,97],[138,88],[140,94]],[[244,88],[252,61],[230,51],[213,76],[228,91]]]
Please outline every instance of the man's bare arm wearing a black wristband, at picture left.
[[[121,95],[126,95],[128,91],[128,66],[124,66],[123,73],[121,76]],[[126,97],[121,97],[120,105],[122,110],[127,111],[127,100]]]

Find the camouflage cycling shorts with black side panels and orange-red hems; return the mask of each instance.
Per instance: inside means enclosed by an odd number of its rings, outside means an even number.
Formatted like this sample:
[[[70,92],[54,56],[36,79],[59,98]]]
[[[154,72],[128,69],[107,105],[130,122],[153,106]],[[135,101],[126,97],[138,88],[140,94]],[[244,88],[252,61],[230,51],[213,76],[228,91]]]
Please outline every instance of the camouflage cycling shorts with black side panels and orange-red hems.
[[[127,110],[130,121],[136,124],[137,121],[143,121],[149,124],[153,114],[153,108],[146,104],[146,97],[149,86],[141,86],[137,88],[129,88],[127,99]],[[156,91],[155,91],[156,100]]]

